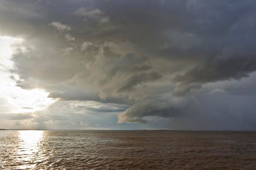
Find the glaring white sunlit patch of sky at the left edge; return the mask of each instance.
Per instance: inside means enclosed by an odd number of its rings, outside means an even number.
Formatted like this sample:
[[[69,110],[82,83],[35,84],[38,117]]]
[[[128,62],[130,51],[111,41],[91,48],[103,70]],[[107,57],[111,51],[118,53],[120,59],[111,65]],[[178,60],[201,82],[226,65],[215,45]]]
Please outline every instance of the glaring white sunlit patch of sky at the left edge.
[[[43,89],[22,89],[16,86],[19,79],[17,74],[11,72],[14,68],[11,60],[14,46],[21,43],[22,39],[0,36],[0,113],[33,113],[49,107],[55,100],[48,98]]]

